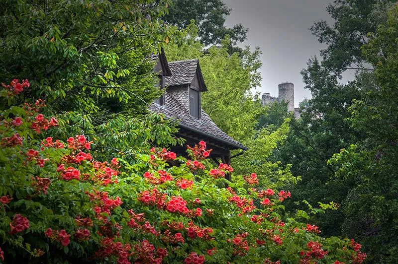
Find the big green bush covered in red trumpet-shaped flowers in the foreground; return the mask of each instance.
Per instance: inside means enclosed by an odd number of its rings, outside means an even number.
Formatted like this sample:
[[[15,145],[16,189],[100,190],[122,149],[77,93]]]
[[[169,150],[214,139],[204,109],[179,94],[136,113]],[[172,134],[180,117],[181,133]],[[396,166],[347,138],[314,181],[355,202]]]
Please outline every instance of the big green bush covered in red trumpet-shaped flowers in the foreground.
[[[29,82],[0,96],[13,102]],[[85,135],[46,133],[45,107],[0,113],[0,259],[17,263],[361,263],[353,240],[321,238],[314,225],[282,216],[289,191],[258,190],[257,175],[223,177],[200,141],[191,159],[166,149],[98,161]],[[174,164],[172,166],[171,164]],[[305,212],[300,212],[305,217]]]

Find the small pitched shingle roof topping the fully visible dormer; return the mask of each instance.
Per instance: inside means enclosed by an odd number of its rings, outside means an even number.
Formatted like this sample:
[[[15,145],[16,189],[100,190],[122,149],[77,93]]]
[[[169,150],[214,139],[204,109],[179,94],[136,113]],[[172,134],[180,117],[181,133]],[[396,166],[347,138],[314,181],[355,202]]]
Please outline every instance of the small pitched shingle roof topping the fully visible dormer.
[[[199,91],[207,91],[198,59],[170,62],[169,67],[172,75],[166,77],[166,87],[192,84],[196,76]]]

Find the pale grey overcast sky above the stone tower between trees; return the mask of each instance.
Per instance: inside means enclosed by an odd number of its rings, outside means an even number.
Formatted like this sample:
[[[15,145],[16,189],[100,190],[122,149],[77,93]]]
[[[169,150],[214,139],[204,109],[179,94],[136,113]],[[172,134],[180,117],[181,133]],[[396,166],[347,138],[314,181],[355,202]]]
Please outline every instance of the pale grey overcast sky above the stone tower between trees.
[[[295,107],[311,94],[303,89],[300,70],[325,46],[308,28],[314,21],[327,20],[326,6],[332,0],[224,0],[232,8],[226,19],[230,27],[242,23],[249,28],[247,40],[239,46],[260,47],[262,87],[257,91],[278,96],[278,84],[295,84]]]

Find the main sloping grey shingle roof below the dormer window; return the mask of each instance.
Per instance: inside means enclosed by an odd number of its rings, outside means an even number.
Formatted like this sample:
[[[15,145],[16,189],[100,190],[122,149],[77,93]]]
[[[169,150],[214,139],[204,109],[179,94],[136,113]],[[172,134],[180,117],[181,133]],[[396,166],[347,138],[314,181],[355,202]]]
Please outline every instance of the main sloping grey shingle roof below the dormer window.
[[[171,93],[167,92],[167,90],[165,92],[165,97],[164,106],[152,103],[149,109],[165,115],[166,118],[177,121],[182,128],[189,129],[202,134],[203,136],[221,141],[222,143],[229,145],[231,149],[239,148],[247,150],[247,147],[218,128],[203,110],[201,110],[201,119],[198,120],[192,117],[189,112],[178,102],[178,100]]]

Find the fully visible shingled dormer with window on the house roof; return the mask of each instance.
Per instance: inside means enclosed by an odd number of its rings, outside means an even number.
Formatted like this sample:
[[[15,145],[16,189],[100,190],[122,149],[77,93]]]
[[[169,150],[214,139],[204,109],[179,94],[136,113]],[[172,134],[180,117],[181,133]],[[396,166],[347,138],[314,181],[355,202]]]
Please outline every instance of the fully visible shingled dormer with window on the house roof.
[[[167,92],[173,95],[189,114],[201,119],[201,92],[207,91],[199,60],[169,63],[172,75],[166,77]]]

